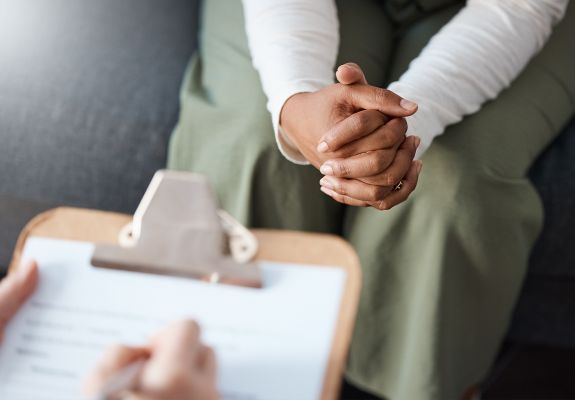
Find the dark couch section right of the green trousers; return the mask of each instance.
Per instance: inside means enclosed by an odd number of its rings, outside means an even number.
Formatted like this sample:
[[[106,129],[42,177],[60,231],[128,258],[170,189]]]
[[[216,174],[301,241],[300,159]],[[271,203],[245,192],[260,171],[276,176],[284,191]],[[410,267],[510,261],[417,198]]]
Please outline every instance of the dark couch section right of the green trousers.
[[[531,169],[545,224],[509,339],[575,348],[575,120]]]

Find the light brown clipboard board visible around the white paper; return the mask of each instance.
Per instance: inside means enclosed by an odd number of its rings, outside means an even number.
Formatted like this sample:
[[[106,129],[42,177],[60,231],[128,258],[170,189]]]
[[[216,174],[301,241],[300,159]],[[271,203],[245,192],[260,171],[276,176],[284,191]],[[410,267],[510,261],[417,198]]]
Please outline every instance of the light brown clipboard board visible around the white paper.
[[[22,230],[10,271],[20,265],[28,238],[117,245],[119,235],[131,222],[132,216],[129,215],[79,208],[62,207],[41,213]],[[334,235],[279,230],[252,230],[251,234],[258,242],[255,261],[335,266],[345,270],[347,279],[320,397],[322,400],[338,398],[361,286],[360,265],[355,251],[346,241]]]

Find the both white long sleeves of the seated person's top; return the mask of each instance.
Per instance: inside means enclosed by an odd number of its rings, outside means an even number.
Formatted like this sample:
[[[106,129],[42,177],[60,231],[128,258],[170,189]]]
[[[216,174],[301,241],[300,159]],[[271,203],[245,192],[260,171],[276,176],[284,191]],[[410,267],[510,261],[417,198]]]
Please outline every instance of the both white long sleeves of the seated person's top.
[[[468,0],[388,89],[419,105],[408,134],[417,157],[448,125],[477,112],[517,77],[545,44],[569,0]],[[286,100],[333,83],[339,45],[333,0],[243,0],[253,64],[268,97],[280,151],[307,164],[281,133]],[[353,61],[353,60],[350,60]]]

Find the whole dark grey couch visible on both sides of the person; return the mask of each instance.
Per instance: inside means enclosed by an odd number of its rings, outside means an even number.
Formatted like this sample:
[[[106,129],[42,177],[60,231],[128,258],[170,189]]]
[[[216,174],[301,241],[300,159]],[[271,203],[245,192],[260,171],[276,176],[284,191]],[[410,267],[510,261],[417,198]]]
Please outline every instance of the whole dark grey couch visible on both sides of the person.
[[[165,165],[197,2],[4,0],[0,266],[22,225],[66,204],[133,212]],[[574,105],[575,109],[575,105]],[[546,223],[511,342],[575,347],[575,123],[532,170]]]

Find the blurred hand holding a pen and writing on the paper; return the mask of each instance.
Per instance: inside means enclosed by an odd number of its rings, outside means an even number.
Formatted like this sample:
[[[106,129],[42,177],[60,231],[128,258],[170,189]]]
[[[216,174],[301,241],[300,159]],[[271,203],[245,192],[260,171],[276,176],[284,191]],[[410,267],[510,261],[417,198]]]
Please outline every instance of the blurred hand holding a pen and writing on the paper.
[[[194,321],[170,325],[146,347],[116,346],[104,356],[86,384],[90,395],[126,366],[146,360],[136,389],[125,400],[215,400],[216,359],[200,341]]]

